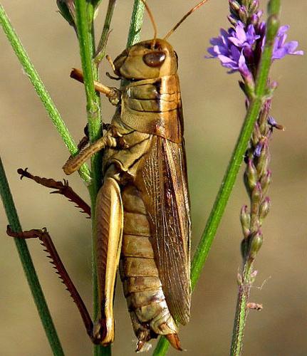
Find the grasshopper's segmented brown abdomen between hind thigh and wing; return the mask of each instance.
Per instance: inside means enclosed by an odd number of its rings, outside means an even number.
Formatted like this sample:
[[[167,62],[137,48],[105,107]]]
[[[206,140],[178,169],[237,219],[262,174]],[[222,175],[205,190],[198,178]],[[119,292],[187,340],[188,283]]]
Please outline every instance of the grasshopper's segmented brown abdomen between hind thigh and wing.
[[[120,278],[123,281],[132,326],[140,350],[157,335],[177,338],[177,325],[165,301],[154,252],[150,242],[150,225],[140,192],[132,184],[123,188],[123,246]]]

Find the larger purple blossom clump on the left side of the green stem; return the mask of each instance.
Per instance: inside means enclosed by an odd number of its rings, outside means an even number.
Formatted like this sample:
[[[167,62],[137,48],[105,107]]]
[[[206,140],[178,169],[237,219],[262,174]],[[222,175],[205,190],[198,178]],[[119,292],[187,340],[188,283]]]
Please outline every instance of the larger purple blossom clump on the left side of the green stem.
[[[229,28],[228,32],[221,29],[219,37],[211,38],[210,43],[213,47],[208,48],[211,54],[208,58],[219,58],[222,66],[230,69],[229,73],[239,71],[247,77],[250,71],[246,66],[244,54],[251,53],[254,43],[259,38],[253,25],[249,25],[246,31],[244,24],[238,21],[236,28]]]

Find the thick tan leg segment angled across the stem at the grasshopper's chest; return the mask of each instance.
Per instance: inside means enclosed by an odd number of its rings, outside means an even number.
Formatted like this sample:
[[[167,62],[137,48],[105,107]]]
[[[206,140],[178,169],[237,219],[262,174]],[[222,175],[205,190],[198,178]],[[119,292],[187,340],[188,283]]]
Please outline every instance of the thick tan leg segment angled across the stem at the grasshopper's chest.
[[[65,174],[72,174],[76,172],[82,164],[87,161],[90,157],[95,155],[95,153],[103,150],[105,147],[115,147],[117,145],[115,137],[113,137],[112,132],[108,131],[103,137],[100,137],[97,141],[93,142],[91,145],[86,147],[84,150],[80,151],[78,155],[74,157],[69,157],[66,164],[63,165],[63,170]]]

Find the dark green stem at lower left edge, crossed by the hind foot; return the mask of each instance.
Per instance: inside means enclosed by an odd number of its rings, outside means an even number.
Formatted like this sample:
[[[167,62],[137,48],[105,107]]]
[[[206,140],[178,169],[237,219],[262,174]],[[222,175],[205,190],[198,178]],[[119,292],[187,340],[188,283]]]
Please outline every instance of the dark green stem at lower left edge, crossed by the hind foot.
[[[9,189],[9,182],[6,179],[6,174],[4,171],[4,166],[1,161],[1,157],[0,157],[0,194],[11,229],[15,232],[21,232],[22,231],[21,224],[19,222],[19,217],[17,215],[16,207],[14,205],[14,200],[11,195],[11,190]],[[26,241],[23,239],[14,239],[14,241],[16,244],[17,251],[19,253],[21,264],[24,268],[24,273],[26,274],[28,285],[33,295],[34,303],[36,304],[38,314],[41,318],[41,323],[43,324],[43,328],[45,330],[49,344],[51,346],[51,350],[53,351],[53,355],[62,356],[64,355],[64,352],[61,346],[61,342],[58,339],[56,328],[53,325],[53,320],[48,310],[48,305],[43,295],[43,290],[41,290],[41,285],[38,281],[38,276],[36,275],[36,271],[33,266],[30,253],[28,251],[28,246],[26,245]]]

